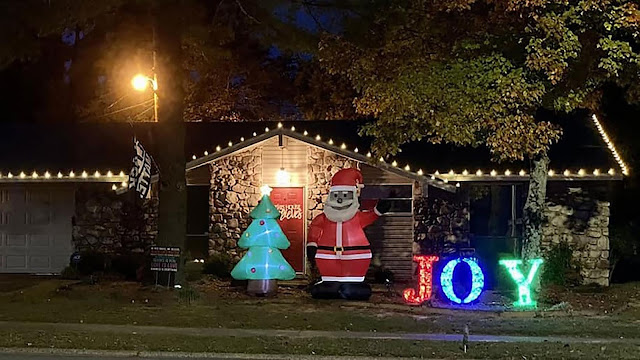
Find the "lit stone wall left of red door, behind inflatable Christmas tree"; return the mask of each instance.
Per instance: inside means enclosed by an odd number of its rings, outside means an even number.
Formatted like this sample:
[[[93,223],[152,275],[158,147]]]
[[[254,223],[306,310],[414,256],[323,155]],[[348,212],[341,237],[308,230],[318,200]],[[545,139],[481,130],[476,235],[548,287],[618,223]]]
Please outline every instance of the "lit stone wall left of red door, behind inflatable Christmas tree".
[[[209,255],[226,253],[237,262],[243,254],[238,240],[251,223],[249,212],[260,201],[262,148],[234,154],[210,167]]]

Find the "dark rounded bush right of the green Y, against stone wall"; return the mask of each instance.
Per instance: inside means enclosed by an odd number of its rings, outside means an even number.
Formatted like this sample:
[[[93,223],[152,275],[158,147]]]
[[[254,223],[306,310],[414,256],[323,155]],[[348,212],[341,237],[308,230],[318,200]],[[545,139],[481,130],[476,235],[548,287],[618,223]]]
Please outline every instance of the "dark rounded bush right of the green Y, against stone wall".
[[[573,259],[573,248],[566,242],[553,245],[545,254],[541,275],[544,284],[580,284],[580,266]]]

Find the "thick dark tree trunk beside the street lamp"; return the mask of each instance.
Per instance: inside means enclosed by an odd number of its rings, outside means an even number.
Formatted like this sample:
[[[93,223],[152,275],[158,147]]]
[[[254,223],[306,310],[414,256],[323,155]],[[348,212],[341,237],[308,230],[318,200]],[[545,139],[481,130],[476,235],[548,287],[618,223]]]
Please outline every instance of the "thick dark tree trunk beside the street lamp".
[[[182,88],[182,19],[180,1],[154,4],[154,42],[158,81],[158,156],[160,168],[158,238],[160,246],[180,247],[183,254],[176,282],[182,283],[187,223]]]

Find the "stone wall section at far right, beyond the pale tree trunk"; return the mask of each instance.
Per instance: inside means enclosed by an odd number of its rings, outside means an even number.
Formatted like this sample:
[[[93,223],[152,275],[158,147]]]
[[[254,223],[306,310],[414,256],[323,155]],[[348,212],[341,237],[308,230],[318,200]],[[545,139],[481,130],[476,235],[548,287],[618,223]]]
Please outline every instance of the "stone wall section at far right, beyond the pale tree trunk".
[[[550,192],[550,193],[549,193]],[[609,285],[609,206],[581,188],[548,191],[542,250],[566,242],[574,249],[583,283]]]

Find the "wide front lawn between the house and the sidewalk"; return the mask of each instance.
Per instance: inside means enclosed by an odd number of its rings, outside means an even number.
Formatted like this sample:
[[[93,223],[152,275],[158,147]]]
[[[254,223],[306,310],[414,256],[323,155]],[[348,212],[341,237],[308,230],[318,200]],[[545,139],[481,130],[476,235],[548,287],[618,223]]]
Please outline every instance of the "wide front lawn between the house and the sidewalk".
[[[461,333],[469,324],[472,334],[640,336],[639,309],[628,304],[592,316],[570,316],[564,311],[443,312],[377,300],[313,300],[301,291],[287,289],[276,298],[257,299],[235,290],[212,289],[211,283],[203,283],[198,287],[200,299],[186,305],[178,300],[175,291],[135,283],[71,284],[75,282],[58,279],[29,281],[22,287],[13,284],[8,291],[0,291],[0,321],[419,333]],[[219,287],[226,283],[215,284]],[[628,287],[627,292],[638,291],[640,284]]]

